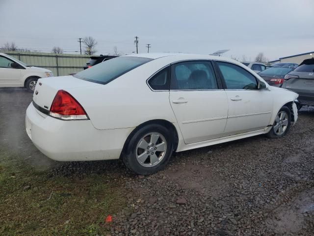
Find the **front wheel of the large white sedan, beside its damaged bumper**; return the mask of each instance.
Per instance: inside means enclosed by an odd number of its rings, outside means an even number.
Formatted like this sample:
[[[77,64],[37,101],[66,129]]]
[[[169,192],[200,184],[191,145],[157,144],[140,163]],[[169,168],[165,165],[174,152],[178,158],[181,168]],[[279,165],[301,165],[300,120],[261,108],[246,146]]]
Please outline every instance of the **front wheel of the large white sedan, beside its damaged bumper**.
[[[281,138],[283,137],[289,130],[291,123],[291,111],[288,107],[282,107],[273,124],[271,130],[267,133],[269,138]]]

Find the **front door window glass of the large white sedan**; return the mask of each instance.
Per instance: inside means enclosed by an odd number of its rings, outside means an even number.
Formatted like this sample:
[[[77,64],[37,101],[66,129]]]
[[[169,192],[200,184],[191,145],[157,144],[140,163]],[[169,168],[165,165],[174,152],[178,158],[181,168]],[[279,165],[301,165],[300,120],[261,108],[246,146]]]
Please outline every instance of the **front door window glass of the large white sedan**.
[[[217,62],[227,89],[257,89],[256,78],[242,67],[227,63]]]

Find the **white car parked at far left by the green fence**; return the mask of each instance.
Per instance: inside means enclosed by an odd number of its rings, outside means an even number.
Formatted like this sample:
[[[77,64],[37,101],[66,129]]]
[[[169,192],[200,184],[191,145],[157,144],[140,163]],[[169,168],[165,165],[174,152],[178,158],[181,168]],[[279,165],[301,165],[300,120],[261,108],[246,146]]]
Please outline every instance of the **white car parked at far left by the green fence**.
[[[0,53],[0,87],[25,87],[33,91],[39,78],[52,77],[52,71]]]

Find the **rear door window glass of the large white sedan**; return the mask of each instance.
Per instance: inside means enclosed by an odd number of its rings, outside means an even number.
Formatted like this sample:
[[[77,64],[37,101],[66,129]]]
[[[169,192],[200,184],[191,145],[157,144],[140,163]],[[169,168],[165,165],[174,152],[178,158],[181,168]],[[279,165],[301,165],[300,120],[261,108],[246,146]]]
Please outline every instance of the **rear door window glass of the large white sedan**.
[[[174,64],[171,70],[171,89],[218,89],[209,61],[181,62]]]

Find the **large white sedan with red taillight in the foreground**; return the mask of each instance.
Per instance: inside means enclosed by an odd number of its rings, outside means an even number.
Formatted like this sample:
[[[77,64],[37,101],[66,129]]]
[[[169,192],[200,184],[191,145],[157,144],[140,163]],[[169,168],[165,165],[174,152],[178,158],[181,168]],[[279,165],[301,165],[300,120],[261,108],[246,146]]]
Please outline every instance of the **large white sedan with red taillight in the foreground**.
[[[232,59],[129,55],[74,76],[39,79],[26,132],[54,160],[121,158],[149,175],[173,151],[284,136],[296,122],[297,97]]]

